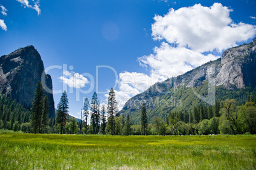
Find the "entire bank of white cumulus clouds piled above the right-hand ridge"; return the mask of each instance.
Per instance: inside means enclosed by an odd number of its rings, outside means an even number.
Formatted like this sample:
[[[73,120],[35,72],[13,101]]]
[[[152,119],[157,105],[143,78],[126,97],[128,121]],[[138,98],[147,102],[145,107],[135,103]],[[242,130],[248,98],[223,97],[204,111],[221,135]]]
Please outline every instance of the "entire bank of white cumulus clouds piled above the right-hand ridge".
[[[154,83],[215,60],[222,50],[253,38],[255,25],[235,24],[229,16],[231,11],[220,3],[214,3],[210,7],[195,4],[171,9],[163,17],[155,15],[152,37],[162,43],[153,48],[152,54],[138,57],[139,65],[150,71],[148,75],[136,72],[119,74],[116,94],[118,99],[124,101],[119,103],[119,108],[129,97],[145,91]]]

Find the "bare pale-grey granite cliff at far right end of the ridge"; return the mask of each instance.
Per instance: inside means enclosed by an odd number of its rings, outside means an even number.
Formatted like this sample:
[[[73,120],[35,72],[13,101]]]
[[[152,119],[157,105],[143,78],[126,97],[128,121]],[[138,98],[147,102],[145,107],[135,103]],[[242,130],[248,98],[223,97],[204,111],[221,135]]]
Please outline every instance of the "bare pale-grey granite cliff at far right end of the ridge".
[[[255,49],[253,43],[226,50],[222,55],[222,69],[217,74],[215,85],[224,85],[227,89],[255,87]]]

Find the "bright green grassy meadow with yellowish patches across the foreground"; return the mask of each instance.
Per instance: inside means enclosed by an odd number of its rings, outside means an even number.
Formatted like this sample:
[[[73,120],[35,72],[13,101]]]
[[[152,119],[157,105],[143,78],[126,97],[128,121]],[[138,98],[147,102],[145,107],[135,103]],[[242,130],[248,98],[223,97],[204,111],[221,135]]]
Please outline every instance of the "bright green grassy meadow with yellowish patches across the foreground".
[[[256,169],[256,136],[0,134],[1,169]]]

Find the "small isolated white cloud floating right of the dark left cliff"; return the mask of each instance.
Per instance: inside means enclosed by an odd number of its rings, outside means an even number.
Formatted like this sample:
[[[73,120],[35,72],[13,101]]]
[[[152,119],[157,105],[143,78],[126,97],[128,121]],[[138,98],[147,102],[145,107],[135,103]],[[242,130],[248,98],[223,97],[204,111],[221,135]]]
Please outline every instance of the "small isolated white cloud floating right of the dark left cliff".
[[[85,85],[89,83],[89,80],[87,80],[87,78],[85,78],[82,74],[75,73],[73,71],[64,71],[63,73],[64,75],[60,76],[59,79],[69,87],[79,89],[85,87]]]

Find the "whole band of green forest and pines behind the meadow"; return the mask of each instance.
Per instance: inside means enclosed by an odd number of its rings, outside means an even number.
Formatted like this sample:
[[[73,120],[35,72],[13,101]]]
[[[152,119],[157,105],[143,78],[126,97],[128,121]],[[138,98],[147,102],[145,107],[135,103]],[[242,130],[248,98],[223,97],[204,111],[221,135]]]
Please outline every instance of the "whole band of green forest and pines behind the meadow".
[[[142,104],[139,124],[132,124],[129,115],[119,115],[115,92],[110,90],[108,104],[99,104],[94,92],[92,100],[83,104],[83,120],[68,115],[68,95],[62,94],[55,118],[48,118],[48,97],[38,81],[31,108],[0,96],[0,129],[26,133],[60,134],[112,134],[112,135],[195,135],[195,134],[255,134],[255,89],[246,87],[231,91],[225,101],[217,100],[214,106],[197,104],[193,110],[173,111],[164,117],[153,117],[148,124],[146,104]],[[218,95],[224,95],[218,90]],[[236,99],[232,99],[232,97]],[[217,97],[218,98],[218,97]],[[90,122],[90,123],[89,123]]]

